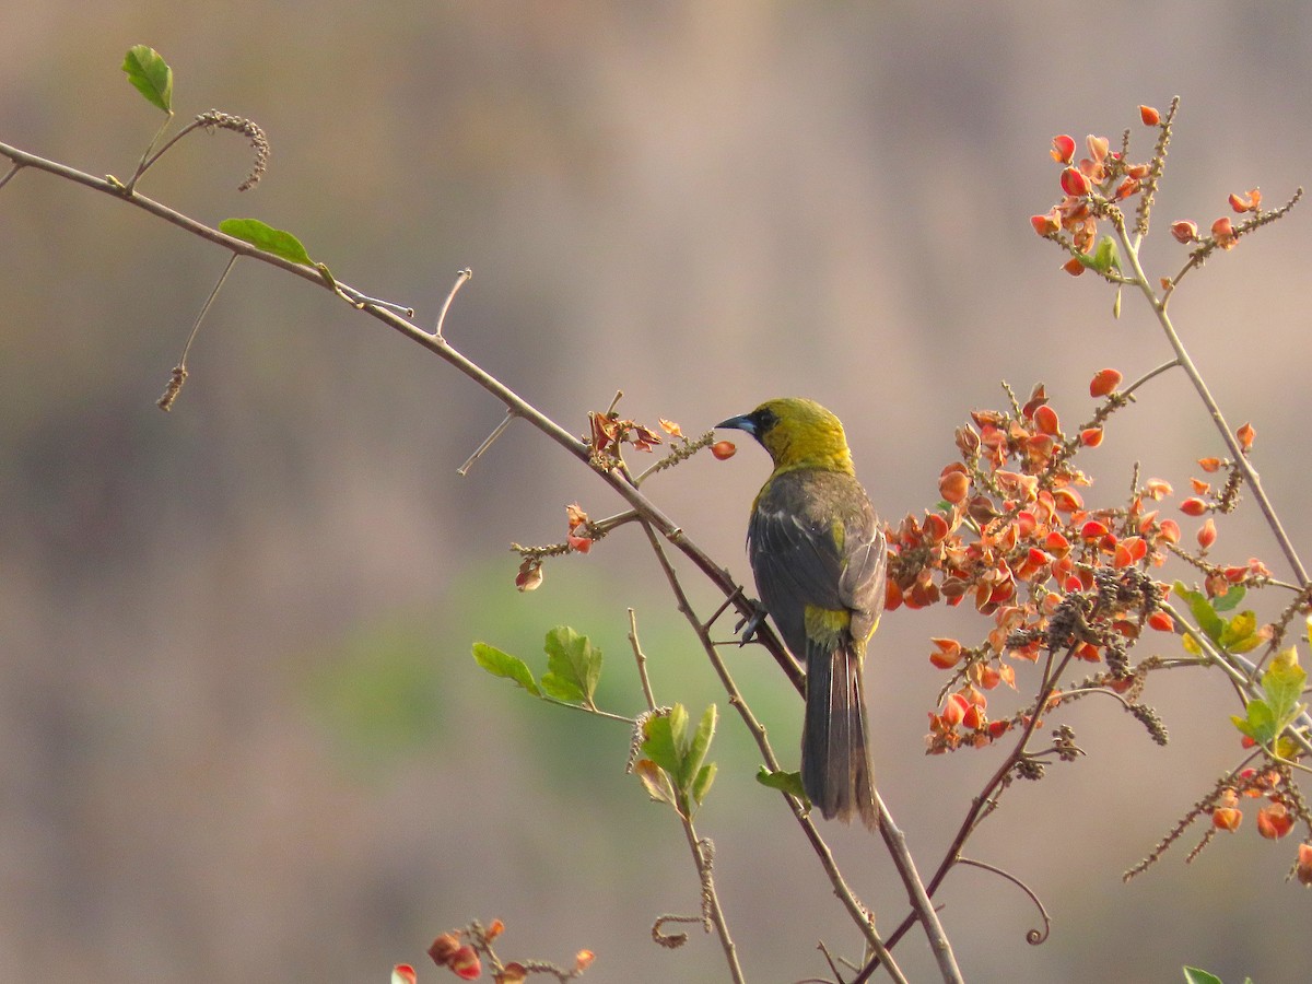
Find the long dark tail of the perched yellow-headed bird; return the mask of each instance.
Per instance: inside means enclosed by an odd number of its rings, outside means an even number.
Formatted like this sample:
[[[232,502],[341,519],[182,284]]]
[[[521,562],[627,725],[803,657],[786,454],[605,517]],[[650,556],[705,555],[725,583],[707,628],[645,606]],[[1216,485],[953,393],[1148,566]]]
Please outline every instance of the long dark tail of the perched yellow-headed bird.
[[[866,737],[862,660],[850,640],[836,649],[807,646],[807,710],[802,724],[802,786],[827,820],[861,815],[879,825]]]

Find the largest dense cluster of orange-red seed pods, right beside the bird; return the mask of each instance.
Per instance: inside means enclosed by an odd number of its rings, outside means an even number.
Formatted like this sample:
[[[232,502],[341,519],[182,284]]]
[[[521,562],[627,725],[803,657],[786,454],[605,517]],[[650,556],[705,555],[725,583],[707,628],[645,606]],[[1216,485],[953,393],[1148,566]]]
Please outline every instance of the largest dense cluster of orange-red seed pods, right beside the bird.
[[[1123,405],[1120,380],[1113,369],[1093,378],[1089,394],[1101,403],[1069,434],[1042,386],[1018,412],[975,411],[970,425],[956,430],[960,461],[941,472],[941,510],[907,516],[888,530],[890,610],[968,602],[992,619],[976,647],[933,640],[930,663],[953,670],[949,689],[956,689],[930,714],[929,752],[987,745],[1039,714],[1029,708],[988,719],[985,693],[1000,684],[1015,687],[1015,661],[1069,652],[1076,660],[1105,664],[1099,682],[1126,693],[1136,681],[1127,653],[1143,630],[1174,630],[1160,607],[1168,586],[1148,575],[1183,535],[1179,523],[1156,506],[1173,495],[1170,484],[1148,479],[1126,505],[1090,509],[1081,493],[1089,479],[1072,464],[1081,449],[1101,443],[1106,417]],[[1218,461],[1215,468],[1223,464]],[[1204,459],[1203,467],[1210,466]],[[1199,495],[1185,500],[1185,514],[1200,514],[1195,499],[1203,513],[1218,508],[1202,499],[1208,489],[1207,483],[1195,484]],[[1215,539],[1208,518],[1198,531],[1200,550]],[[1269,573],[1256,560],[1212,571],[1214,594]],[[1043,710],[1059,699],[1054,693]]]

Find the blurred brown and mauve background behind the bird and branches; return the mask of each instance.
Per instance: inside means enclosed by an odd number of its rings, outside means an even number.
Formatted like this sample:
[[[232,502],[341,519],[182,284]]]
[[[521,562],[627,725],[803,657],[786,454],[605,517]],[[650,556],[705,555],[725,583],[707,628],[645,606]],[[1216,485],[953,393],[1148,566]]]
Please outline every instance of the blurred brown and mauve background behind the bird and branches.
[[[119,71],[135,43],[176,72],[178,118],[252,117],[249,148],[194,134],[140,190],[206,223],[297,232],[345,282],[432,325],[457,270],[450,340],[565,426],[617,390],[627,416],[690,434],[786,394],[848,425],[892,520],[937,499],[953,428],[1043,380],[1088,415],[1103,366],[1169,357],[1141,302],[1059,270],[1029,216],[1057,198],[1054,134],[1151,133],[1183,108],[1145,248],[1152,276],[1254,185],[1309,180],[1312,8],[1065,3],[363,5],[47,0],[0,8],[0,140],[127,177],[160,117]],[[1309,214],[1190,277],[1177,324],[1300,544],[1305,514]],[[479,670],[474,640],[542,670],[555,625],[606,653],[602,703],[642,706],[638,625],[663,702],[718,691],[635,530],[513,586],[512,541],[554,542],[563,506],[618,508],[586,468],[375,321],[240,262],[172,413],[155,400],[227,257],[122,203],[35,172],[0,192],[0,977],[386,980],[438,932],[508,924],[501,953],[588,979],[722,980],[718,945],[655,946],[698,887],[676,820],[623,774],[622,726],[530,701]],[[1177,489],[1223,454],[1168,374],[1086,454],[1092,505],[1134,463]],[[739,577],[758,449],[699,455],[647,485]],[[1245,502],[1216,555],[1287,575]],[[1183,517],[1182,517],[1183,518]],[[1197,521],[1185,521],[1186,535]],[[1186,571],[1177,572],[1189,576]],[[715,598],[687,572],[695,604]],[[1260,598],[1270,618],[1281,600]],[[922,867],[1000,761],[926,758],[942,676],[929,636],[979,619],[900,610],[870,673],[880,786]],[[1173,646],[1149,640],[1149,646]],[[752,649],[732,668],[795,764],[800,705]],[[1022,668],[1022,686],[1027,685]],[[1233,765],[1219,677],[1155,678],[1160,749],[1111,702],[1065,720],[1088,757],[1013,789],[970,854],[1047,904],[960,870],[942,916],[979,981],[1305,979],[1295,845],[1253,829],[1191,866],[1194,832],[1123,884]],[[993,697],[998,708],[1008,695]],[[817,939],[859,942],[757,752],[722,714],[698,817],[748,976],[821,975]],[[890,932],[904,892],[883,848],[827,825]],[[922,938],[896,951],[934,979]]]

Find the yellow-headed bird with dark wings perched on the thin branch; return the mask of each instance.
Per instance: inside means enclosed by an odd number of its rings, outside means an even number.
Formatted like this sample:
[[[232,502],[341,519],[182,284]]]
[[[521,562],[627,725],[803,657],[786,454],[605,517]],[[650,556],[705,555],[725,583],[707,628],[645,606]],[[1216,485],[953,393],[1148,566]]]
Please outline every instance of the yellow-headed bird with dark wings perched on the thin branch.
[[[862,664],[888,558],[842,424],[813,400],[787,398],[716,426],[745,430],[774,459],[747,544],[765,610],[807,668],[802,785],[825,819],[859,815],[875,829]]]

